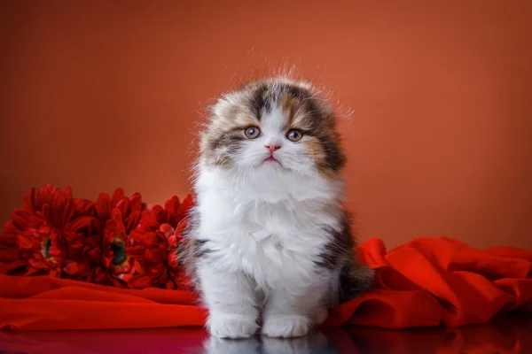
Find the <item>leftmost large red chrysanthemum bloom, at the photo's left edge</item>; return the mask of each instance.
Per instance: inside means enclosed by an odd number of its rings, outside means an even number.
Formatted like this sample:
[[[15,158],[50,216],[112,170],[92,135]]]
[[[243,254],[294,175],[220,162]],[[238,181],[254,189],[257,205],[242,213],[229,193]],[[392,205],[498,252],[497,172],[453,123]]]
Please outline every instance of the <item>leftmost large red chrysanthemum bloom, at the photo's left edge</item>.
[[[0,236],[3,272],[77,274],[79,259],[69,258],[69,250],[92,223],[90,201],[51,185],[31,189],[23,200],[23,208],[12,213]]]

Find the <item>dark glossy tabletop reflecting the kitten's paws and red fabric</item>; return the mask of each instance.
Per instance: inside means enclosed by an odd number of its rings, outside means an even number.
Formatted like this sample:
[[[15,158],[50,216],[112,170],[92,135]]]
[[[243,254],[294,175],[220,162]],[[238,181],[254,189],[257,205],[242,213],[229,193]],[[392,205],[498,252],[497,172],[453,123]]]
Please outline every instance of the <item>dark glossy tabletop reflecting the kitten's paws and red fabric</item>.
[[[532,316],[512,315],[488,325],[386,330],[324,328],[303,338],[209,338],[200,328],[0,333],[0,353],[532,353]]]

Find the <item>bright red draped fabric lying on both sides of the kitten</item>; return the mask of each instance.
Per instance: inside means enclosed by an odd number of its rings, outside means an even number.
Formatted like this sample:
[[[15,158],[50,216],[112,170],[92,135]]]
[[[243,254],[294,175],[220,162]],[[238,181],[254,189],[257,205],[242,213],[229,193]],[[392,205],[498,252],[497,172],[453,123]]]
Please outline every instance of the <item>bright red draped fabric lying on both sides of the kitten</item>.
[[[458,327],[498,313],[532,312],[532,250],[474,250],[419,238],[387,252],[379,239],[360,257],[377,271],[372,291],[341,304],[324,324]],[[0,327],[18,330],[184,327],[207,312],[184,290],[117,289],[51,276],[0,275]]]

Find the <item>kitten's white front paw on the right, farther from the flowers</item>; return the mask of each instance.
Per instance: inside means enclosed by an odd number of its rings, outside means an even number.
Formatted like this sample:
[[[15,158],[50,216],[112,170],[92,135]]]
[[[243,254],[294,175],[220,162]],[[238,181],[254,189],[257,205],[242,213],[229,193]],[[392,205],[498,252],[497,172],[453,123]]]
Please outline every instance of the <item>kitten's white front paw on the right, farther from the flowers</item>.
[[[267,317],[262,326],[262,335],[293,338],[309,333],[310,321],[304,316],[276,315]]]

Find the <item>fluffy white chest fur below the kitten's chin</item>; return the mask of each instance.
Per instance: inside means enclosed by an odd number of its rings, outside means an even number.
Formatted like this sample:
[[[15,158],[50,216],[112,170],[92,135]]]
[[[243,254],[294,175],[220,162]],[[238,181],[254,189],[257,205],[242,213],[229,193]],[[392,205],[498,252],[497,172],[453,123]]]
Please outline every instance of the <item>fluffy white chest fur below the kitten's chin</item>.
[[[279,280],[311,278],[329,240],[325,226],[338,227],[328,204],[339,186],[296,175],[250,178],[236,189],[231,178],[203,170],[197,181],[199,234],[216,266],[247,273],[265,291]]]

